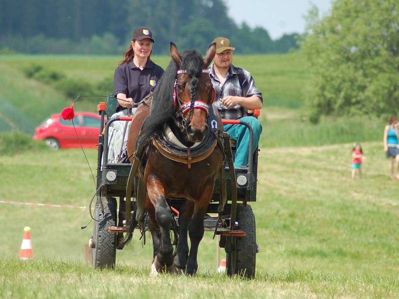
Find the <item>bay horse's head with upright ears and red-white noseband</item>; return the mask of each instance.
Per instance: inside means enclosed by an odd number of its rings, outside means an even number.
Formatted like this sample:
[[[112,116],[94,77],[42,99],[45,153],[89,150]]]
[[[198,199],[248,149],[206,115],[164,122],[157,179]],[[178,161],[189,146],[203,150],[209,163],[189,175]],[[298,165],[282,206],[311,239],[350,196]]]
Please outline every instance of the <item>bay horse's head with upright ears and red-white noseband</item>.
[[[174,93],[175,107],[179,110],[178,126],[186,133],[188,142],[201,142],[208,131],[206,119],[215,98],[207,70],[216,52],[215,44],[209,46],[204,58],[196,51],[180,55],[172,42],[170,51],[178,67]]]

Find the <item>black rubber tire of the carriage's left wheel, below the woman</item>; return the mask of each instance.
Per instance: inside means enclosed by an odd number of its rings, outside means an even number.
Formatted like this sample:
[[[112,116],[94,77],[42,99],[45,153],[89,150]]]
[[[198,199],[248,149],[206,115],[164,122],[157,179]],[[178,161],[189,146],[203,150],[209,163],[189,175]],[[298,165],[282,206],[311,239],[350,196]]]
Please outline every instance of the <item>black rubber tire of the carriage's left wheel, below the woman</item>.
[[[97,197],[94,210],[93,238],[95,248],[93,249],[92,267],[93,269],[114,268],[116,261],[116,236],[115,233],[108,232],[109,226],[116,226],[117,223],[117,203],[113,197],[101,197],[104,206],[104,217],[100,207],[100,197]]]

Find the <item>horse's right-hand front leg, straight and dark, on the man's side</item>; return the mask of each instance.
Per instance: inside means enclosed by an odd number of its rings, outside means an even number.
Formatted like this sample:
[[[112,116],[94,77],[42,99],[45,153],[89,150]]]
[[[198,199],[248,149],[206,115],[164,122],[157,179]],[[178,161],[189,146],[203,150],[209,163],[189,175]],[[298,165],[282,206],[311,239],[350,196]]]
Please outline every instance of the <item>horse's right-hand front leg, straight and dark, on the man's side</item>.
[[[197,255],[198,247],[200,245],[200,241],[202,240],[204,232],[203,218],[205,216],[206,209],[208,208],[212,192],[213,184],[205,186],[200,199],[197,200],[194,205],[193,218],[191,219],[189,224],[191,247],[186,269],[186,273],[190,275],[195,274],[198,270]]]

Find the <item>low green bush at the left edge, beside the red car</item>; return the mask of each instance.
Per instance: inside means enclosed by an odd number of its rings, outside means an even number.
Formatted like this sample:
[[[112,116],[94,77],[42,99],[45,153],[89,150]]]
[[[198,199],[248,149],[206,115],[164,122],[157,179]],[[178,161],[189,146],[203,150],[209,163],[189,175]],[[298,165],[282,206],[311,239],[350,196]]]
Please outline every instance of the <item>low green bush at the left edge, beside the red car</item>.
[[[30,150],[49,150],[42,141],[34,141],[31,136],[20,131],[0,133],[0,155],[13,155]]]

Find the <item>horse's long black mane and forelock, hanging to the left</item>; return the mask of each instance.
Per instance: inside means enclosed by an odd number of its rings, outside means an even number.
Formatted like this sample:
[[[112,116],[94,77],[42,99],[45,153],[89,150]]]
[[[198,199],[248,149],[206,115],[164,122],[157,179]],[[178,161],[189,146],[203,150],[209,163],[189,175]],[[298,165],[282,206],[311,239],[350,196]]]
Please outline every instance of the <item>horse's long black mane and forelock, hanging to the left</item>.
[[[203,59],[196,51],[184,51],[181,53],[182,65],[180,69],[187,70],[190,77],[199,77],[202,72]],[[136,142],[136,149],[140,149],[149,142],[150,137],[159,134],[162,125],[176,114],[173,105],[173,91],[178,67],[174,60],[171,60],[154,91],[151,104],[151,113],[143,123],[141,132]]]

